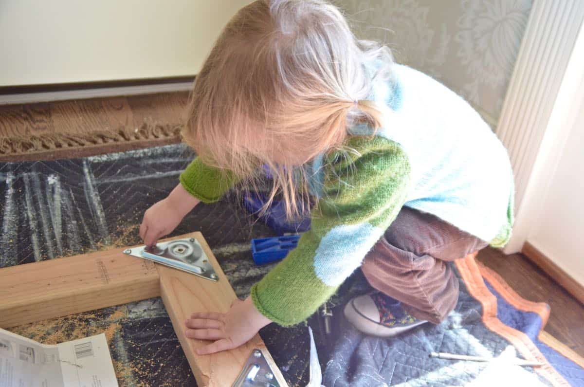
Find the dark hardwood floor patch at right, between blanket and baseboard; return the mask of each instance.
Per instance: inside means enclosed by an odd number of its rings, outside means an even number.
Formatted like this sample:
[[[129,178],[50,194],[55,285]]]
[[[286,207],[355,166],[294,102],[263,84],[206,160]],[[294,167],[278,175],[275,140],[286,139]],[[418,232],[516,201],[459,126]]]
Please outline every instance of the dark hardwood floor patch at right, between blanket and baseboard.
[[[492,268],[523,298],[551,307],[545,331],[584,356],[584,305],[566,292],[523,254],[505,255],[485,248],[478,260]]]

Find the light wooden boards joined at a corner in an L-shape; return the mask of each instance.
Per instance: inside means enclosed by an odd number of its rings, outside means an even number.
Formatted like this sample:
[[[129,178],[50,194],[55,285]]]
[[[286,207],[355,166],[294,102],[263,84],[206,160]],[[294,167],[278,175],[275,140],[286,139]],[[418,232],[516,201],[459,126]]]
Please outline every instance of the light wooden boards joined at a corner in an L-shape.
[[[162,296],[200,387],[230,386],[253,348],[262,350],[280,386],[287,386],[259,335],[234,350],[203,356],[195,353],[208,342],[185,336],[187,316],[193,312],[227,312],[236,296],[201,233],[165,240],[189,237],[203,247],[219,277],[217,282],[131,257],[123,253],[125,248],[2,268],[0,327]]]

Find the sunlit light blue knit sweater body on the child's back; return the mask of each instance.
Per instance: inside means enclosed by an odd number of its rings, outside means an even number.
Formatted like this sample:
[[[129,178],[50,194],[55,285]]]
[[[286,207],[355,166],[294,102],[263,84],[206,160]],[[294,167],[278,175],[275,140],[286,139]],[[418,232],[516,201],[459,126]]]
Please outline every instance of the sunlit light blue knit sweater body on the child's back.
[[[440,82],[405,65],[395,64],[393,71],[394,82],[374,85],[374,99],[387,106],[386,127],[377,135],[400,144],[409,158],[405,206],[496,246],[494,239],[512,217],[513,172],[505,147],[481,116]],[[364,126],[352,130],[370,132]]]

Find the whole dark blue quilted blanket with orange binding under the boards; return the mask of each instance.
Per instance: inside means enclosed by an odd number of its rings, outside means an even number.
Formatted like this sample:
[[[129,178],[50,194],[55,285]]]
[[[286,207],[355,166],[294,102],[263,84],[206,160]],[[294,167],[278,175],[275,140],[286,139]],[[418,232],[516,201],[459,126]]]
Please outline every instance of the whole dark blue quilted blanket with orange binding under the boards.
[[[140,243],[144,211],[177,184],[193,154],[180,144],[102,156],[0,163],[0,267],[58,259],[112,246]],[[239,297],[272,265],[256,266],[252,238],[275,235],[228,195],[197,206],[173,235],[201,231]],[[323,384],[329,386],[451,386],[474,383],[485,364],[430,358],[429,353],[497,357],[512,345],[517,355],[545,363],[525,371],[542,385],[582,385],[578,355],[540,331],[548,307],[519,298],[474,258],[454,267],[460,299],[440,325],[420,326],[394,339],[364,336],[346,323],[342,307],[370,291],[360,271],[329,302],[332,334],[321,319],[260,331],[291,386],[308,382],[310,340],[315,333]],[[110,307],[11,329],[44,343],[105,332],[121,386],[195,385],[160,299]]]

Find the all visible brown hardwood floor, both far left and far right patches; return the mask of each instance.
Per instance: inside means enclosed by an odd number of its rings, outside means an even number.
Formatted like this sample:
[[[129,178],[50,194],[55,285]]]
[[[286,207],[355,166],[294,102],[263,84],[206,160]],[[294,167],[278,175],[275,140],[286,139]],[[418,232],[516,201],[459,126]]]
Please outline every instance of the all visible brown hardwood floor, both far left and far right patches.
[[[182,122],[187,98],[187,92],[176,92],[0,106],[0,137],[140,126],[148,119],[176,124]],[[507,256],[487,248],[478,259],[498,272],[523,298],[547,302],[551,316],[545,330],[584,356],[582,303],[522,254]]]

